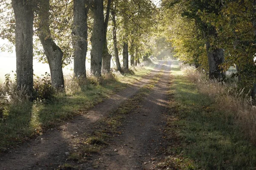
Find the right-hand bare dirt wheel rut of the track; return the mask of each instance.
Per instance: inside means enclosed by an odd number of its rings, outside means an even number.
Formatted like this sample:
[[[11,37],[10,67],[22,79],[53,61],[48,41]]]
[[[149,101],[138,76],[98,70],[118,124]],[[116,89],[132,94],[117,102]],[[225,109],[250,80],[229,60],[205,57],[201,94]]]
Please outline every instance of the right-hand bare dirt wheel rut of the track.
[[[163,159],[165,140],[162,129],[168,112],[167,91],[170,82],[171,63],[163,68],[154,90],[135,109],[118,131],[122,134],[113,137],[109,147],[100,152],[94,160],[99,170],[149,170],[157,169]],[[93,167],[91,167],[93,169]]]

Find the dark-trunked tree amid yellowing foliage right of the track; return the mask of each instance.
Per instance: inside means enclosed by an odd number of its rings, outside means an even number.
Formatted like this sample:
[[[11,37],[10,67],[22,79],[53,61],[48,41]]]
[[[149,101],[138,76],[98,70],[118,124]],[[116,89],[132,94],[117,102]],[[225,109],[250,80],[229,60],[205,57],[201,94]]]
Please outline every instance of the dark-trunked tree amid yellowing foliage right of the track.
[[[221,65],[224,63],[224,49],[215,43],[219,38],[217,28],[201,17],[201,13],[204,16],[218,16],[223,6],[222,0],[165,0],[163,4],[164,8],[172,6],[174,14],[176,12],[184,19],[192,21],[195,26],[193,29],[198,33],[196,35],[196,38],[199,39],[197,44],[201,44],[200,39],[203,39],[206,45],[209,79],[223,80],[225,74]],[[181,37],[181,39],[183,38]],[[194,57],[194,61],[197,61],[198,55],[194,55]]]

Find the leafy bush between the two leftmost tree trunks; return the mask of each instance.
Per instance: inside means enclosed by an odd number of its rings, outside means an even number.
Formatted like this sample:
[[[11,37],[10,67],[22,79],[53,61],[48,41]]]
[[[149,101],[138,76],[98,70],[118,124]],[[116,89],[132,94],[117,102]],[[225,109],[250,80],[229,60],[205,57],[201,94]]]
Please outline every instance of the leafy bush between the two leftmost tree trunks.
[[[34,82],[34,89],[37,99],[50,100],[56,93],[55,89],[52,87],[50,74],[47,72],[42,75],[42,78],[36,77]]]

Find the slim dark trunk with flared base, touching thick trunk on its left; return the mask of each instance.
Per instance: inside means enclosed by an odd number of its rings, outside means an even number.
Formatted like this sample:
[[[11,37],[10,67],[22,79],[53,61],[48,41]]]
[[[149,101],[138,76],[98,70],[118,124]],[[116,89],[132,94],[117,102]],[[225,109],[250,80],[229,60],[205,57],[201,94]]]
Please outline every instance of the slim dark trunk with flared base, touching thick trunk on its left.
[[[108,6],[106,11],[106,17],[104,22],[104,44],[103,44],[103,58],[102,58],[102,72],[110,72],[111,65],[111,54],[108,52],[108,42],[107,42],[107,31],[108,31],[108,20],[110,14],[111,0],[108,0]]]

